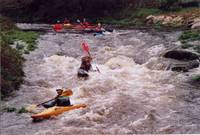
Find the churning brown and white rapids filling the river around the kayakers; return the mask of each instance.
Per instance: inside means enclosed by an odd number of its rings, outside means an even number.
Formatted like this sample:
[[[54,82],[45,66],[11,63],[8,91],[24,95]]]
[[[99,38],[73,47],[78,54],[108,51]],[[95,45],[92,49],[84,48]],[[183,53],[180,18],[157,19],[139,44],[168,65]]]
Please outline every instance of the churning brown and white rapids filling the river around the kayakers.
[[[46,27],[46,26],[45,26]],[[200,89],[187,83],[188,73],[166,71],[152,62],[179,45],[180,32],[116,30],[113,34],[53,33],[38,39],[25,55],[25,82],[5,104],[21,107],[55,96],[56,88],[74,92],[72,104],[87,108],[33,123],[30,113],[2,113],[2,135],[129,135],[200,133]],[[76,77],[85,40],[94,56],[88,80]],[[154,63],[154,64],[152,64]],[[151,69],[147,68],[151,66]]]

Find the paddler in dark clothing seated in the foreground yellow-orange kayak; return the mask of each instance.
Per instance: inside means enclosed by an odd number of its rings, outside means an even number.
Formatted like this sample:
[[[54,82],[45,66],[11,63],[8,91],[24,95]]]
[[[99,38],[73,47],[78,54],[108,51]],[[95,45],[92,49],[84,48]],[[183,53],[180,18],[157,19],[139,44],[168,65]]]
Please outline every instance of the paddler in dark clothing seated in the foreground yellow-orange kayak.
[[[70,106],[71,105],[69,96],[73,94],[72,90],[57,89],[56,92],[58,95],[54,99],[43,104],[45,108],[49,108],[53,106]]]

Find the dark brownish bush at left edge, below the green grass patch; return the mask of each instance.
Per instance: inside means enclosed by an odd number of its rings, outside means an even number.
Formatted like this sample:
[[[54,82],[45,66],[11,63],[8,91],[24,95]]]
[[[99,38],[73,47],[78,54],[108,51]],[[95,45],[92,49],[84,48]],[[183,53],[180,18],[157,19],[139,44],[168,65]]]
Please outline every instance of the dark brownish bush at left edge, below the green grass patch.
[[[8,96],[13,90],[19,88],[23,81],[24,72],[22,64],[24,59],[8,44],[1,44],[1,96]]]

